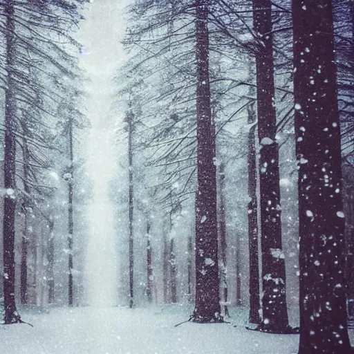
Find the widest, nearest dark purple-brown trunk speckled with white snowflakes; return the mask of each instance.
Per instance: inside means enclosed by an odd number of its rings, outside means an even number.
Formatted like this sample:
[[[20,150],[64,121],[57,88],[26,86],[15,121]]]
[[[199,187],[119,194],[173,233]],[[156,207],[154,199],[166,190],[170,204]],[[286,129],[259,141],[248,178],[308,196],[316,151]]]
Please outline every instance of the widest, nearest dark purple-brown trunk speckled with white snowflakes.
[[[293,1],[292,15],[299,161],[299,354],[350,353],[332,2]]]

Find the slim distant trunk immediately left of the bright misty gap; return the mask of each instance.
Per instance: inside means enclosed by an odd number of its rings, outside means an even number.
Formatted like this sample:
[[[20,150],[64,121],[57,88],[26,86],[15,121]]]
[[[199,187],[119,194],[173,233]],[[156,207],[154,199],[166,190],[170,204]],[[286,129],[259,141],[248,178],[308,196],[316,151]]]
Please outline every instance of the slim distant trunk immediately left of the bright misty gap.
[[[73,306],[73,120],[69,122],[69,158],[70,167],[68,178],[68,305]]]

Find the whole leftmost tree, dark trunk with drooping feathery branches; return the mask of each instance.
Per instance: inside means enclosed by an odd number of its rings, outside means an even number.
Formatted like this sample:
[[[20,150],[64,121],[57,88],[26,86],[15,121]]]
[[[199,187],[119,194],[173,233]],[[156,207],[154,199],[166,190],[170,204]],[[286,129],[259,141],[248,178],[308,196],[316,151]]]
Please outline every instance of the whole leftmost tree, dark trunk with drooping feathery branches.
[[[39,209],[38,201],[28,194],[28,186],[37,192],[37,196],[47,195],[43,191],[48,186],[40,185],[36,169],[45,168],[46,158],[41,149],[48,149],[50,143],[43,142],[41,139],[44,136],[37,131],[41,131],[42,127],[46,126],[43,121],[44,115],[47,120],[48,117],[53,118],[53,107],[57,106],[58,97],[62,93],[53,89],[56,75],[75,76],[68,65],[72,64],[73,58],[68,51],[77,47],[77,42],[68,33],[71,26],[77,24],[81,18],[78,6],[82,2],[83,0],[75,0],[71,3],[51,0],[46,3],[9,0],[0,5],[1,14],[6,18],[5,26],[0,24],[0,28],[6,34],[3,51],[6,57],[4,69],[7,79],[5,121],[8,124],[5,124],[4,175],[5,185],[10,186],[7,190],[11,194],[11,197],[5,196],[4,198],[6,217],[3,221],[4,273],[5,278],[8,278],[4,281],[4,292],[8,294],[5,300],[5,307],[8,309],[5,315],[6,323],[21,322],[15,307],[15,291],[12,285],[15,282],[13,261],[16,202],[22,199],[22,211],[26,218],[30,204]],[[46,68],[44,68],[44,62]],[[28,125],[32,124],[34,129],[26,129],[27,122]],[[24,153],[22,161],[16,160],[17,145],[22,147]],[[32,146],[32,151],[30,146]],[[36,150],[36,153],[33,150]],[[41,156],[40,162],[35,163],[35,159],[39,156]],[[17,163],[23,165],[23,176],[16,174],[15,164]],[[16,178],[23,182],[24,190],[21,190],[21,185],[17,185]],[[21,297],[26,301],[27,240],[23,240]]]

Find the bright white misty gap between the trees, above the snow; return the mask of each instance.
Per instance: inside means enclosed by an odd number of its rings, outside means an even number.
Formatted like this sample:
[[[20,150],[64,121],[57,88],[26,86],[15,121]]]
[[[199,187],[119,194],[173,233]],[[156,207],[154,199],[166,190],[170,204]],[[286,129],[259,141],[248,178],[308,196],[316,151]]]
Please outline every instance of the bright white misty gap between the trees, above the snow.
[[[117,167],[119,155],[113,145],[116,117],[110,111],[113,77],[124,61],[123,8],[127,0],[95,0],[84,13],[79,40],[84,45],[80,62],[89,82],[85,83],[86,115],[92,129],[86,143],[87,170],[93,179],[93,204],[89,208],[90,235],[86,258],[88,303],[112,306],[117,301],[117,251],[113,205],[108,186]]]

